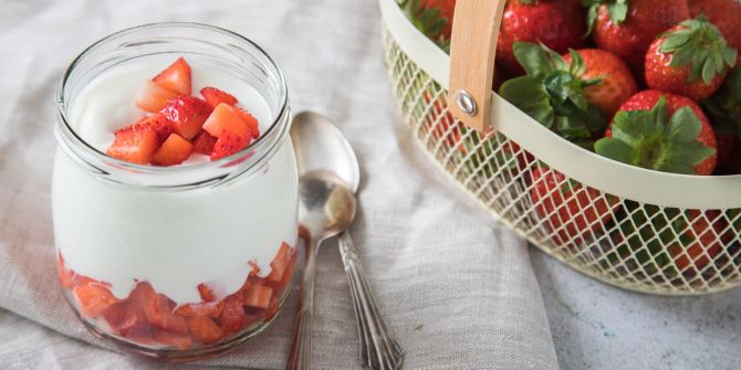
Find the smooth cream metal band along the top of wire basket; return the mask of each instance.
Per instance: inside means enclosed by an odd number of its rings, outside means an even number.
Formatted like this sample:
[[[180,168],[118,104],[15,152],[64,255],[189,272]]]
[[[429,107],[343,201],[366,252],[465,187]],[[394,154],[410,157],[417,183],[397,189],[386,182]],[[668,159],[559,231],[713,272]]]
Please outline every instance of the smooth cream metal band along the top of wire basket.
[[[450,56],[409,22],[396,0],[378,0],[389,35],[436,83],[448,89]],[[495,129],[560,172],[603,192],[662,207],[741,208],[741,175],[692,176],[658,172],[622,163],[554,135],[495,92]]]

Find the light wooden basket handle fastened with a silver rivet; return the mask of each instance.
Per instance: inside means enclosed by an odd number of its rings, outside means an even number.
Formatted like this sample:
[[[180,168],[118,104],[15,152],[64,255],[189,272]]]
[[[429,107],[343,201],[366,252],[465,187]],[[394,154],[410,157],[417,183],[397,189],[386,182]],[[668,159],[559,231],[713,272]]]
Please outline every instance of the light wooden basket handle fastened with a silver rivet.
[[[448,109],[481,133],[491,127],[494,54],[507,0],[459,0],[450,43]]]

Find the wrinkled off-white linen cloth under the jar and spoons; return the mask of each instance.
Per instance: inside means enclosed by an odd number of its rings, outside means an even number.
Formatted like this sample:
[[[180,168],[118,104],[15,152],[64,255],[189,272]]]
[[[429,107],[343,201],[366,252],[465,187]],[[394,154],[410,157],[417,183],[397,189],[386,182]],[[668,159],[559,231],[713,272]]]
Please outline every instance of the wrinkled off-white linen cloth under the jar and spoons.
[[[347,134],[363,176],[352,234],[406,369],[557,368],[525,243],[460,198],[405,130],[374,0],[2,1],[0,9],[0,368],[169,367],[106,349],[77,323],[56,283],[50,210],[58,78],[92,42],[157,21],[210,23],[254,40],[283,68],[293,109],[325,113]],[[265,332],[182,367],[282,368],[296,290]],[[321,251],[315,299],[315,368],[359,368],[333,243]]]

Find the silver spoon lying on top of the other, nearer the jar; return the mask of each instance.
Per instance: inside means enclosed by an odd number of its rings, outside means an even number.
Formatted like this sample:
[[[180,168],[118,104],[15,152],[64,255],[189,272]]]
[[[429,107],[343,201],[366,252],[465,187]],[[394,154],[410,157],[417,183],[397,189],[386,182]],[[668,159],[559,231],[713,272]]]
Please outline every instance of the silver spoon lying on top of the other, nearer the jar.
[[[346,230],[355,218],[355,195],[326,170],[314,170],[299,181],[299,220],[309,232],[306,265],[301,285],[293,345],[286,369],[311,369],[312,323],[316,255],[323,241]]]

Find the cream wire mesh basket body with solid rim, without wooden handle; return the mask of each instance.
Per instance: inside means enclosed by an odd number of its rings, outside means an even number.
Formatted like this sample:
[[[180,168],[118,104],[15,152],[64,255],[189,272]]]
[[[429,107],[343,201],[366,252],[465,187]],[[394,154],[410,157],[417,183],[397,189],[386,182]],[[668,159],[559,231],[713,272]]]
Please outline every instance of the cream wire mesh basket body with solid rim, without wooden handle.
[[[552,134],[495,94],[494,130],[471,129],[448,108],[448,54],[395,0],[379,3],[385,60],[413,137],[495,219],[625,289],[698,295],[741,284],[741,176],[623,165]]]

